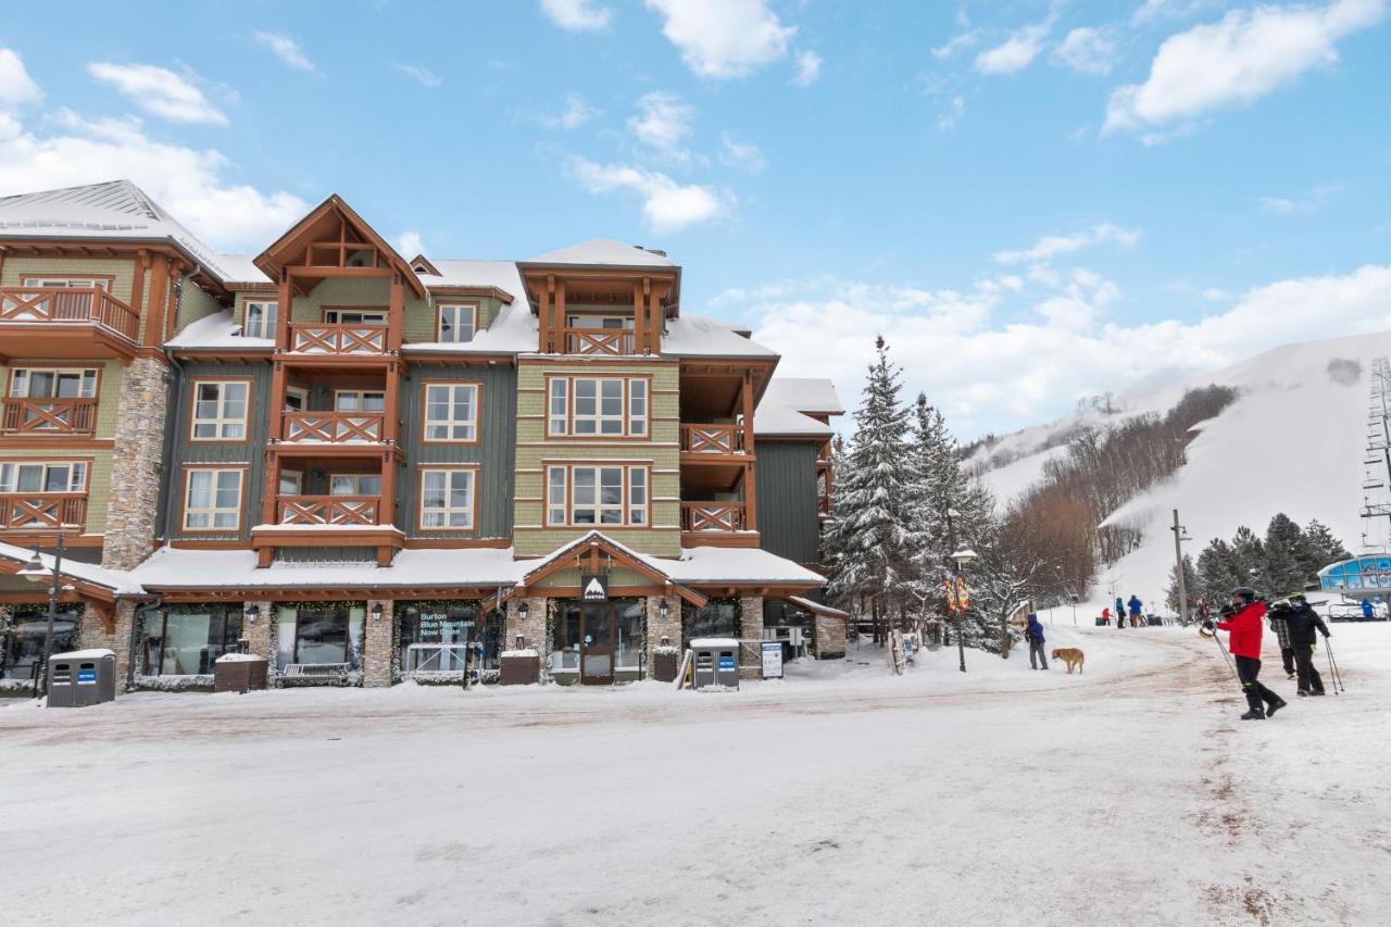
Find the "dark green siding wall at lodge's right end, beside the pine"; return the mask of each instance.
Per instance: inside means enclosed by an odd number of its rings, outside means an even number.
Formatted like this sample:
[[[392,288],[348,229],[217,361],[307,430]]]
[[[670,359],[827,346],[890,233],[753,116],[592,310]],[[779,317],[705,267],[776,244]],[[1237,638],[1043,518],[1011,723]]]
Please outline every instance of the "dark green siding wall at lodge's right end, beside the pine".
[[[758,441],[759,546],[798,564],[821,560],[815,443]]]

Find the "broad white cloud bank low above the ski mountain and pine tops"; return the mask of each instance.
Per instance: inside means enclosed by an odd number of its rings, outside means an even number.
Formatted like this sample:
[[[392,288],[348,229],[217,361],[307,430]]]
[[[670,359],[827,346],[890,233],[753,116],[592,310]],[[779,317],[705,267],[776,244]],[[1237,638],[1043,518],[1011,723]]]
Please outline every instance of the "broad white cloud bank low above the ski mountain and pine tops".
[[[782,352],[780,374],[829,376],[849,406],[882,333],[904,366],[904,394],[925,390],[961,437],[1035,423],[1150,370],[1200,373],[1333,330],[1391,327],[1391,266],[1273,283],[1196,322],[1129,326],[1085,317],[1116,298],[1103,281],[1071,283],[1085,308],[1045,301],[1022,322],[996,319],[1002,299],[983,287],[929,292],[817,278],[785,281],[768,296],[751,290],[739,302],[757,319],[754,338]]]

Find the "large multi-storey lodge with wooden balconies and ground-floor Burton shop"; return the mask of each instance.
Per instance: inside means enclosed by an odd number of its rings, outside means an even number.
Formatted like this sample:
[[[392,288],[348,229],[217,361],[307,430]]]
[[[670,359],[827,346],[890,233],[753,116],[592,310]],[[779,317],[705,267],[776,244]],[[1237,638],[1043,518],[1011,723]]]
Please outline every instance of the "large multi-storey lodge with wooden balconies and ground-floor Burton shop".
[[[0,199],[0,686],[43,651],[14,573],[60,534],[54,649],[135,686],[236,649],[364,685],[447,676],[465,640],[586,683],[691,636],[747,671],[773,626],[840,656],[836,393],[680,295],[606,239],[408,260],[338,196],[255,258],[128,181]]]

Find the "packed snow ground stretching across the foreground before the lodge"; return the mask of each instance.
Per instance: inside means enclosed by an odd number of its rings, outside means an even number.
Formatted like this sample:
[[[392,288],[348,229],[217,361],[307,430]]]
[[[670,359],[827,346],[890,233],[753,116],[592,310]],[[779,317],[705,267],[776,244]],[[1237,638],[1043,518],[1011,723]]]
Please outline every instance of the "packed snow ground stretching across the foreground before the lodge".
[[[0,703],[7,923],[1374,924],[1391,626],[1241,722],[1212,642],[1049,629],[1085,675],[861,650],[739,693]],[[864,664],[858,661],[865,661]],[[1320,650],[1319,665],[1326,660]],[[1273,672],[1274,671],[1274,672]]]

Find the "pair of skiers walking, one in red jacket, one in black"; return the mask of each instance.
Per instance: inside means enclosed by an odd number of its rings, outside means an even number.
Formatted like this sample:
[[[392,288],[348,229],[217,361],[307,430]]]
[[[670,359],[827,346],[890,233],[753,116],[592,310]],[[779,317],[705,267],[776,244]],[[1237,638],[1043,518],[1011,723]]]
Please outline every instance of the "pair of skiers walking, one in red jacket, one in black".
[[[1231,656],[1237,664],[1237,679],[1241,682],[1242,695],[1246,696],[1246,714],[1242,721],[1260,721],[1274,717],[1276,711],[1288,704],[1284,699],[1267,689],[1260,679],[1260,637],[1264,631],[1263,618],[1270,619],[1270,626],[1280,639],[1280,657],[1284,663],[1285,674],[1291,679],[1298,679],[1299,697],[1321,696],[1323,678],[1313,665],[1313,651],[1319,639],[1316,633],[1328,637],[1328,625],[1323,624],[1309,601],[1301,593],[1289,596],[1288,603],[1277,603],[1267,608],[1266,601],[1256,596],[1248,586],[1235,589],[1231,593],[1231,604],[1223,608],[1223,621],[1213,624],[1203,619],[1203,628],[1209,632],[1214,628],[1231,635]]]

